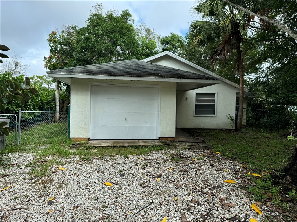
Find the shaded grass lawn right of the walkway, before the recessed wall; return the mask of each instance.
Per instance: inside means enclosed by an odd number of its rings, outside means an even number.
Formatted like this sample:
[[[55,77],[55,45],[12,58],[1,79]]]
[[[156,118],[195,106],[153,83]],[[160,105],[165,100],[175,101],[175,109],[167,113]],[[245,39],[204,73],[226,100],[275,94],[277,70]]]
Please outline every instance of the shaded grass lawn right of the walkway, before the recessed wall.
[[[267,132],[254,128],[233,130],[186,130],[192,136],[202,137],[214,151],[255,170],[281,170],[290,159],[296,140],[288,140],[289,131]]]

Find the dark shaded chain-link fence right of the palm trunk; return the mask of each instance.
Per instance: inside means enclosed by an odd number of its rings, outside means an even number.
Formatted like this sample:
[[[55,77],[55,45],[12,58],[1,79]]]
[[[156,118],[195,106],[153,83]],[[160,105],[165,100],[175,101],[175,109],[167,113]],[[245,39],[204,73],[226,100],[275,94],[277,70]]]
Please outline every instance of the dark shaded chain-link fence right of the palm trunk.
[[[237,118],[236,118],[237,119]],[[242,124],[268,130],[296,129],[297,111],[244,108]]]

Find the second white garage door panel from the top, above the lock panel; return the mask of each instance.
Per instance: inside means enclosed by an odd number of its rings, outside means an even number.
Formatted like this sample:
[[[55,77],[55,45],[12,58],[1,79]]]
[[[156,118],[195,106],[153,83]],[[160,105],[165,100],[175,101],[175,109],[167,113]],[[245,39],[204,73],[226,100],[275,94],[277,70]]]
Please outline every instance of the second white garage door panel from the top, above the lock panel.
[[[147,99],[92,99],[94,106],[93,111],[97,112],[129,112],[133,107],[133,112],[157,112],[159,107],[158,100]],[[104,106],[102,105],[104,104]],[[137,104],[137,106],[135,106]]]

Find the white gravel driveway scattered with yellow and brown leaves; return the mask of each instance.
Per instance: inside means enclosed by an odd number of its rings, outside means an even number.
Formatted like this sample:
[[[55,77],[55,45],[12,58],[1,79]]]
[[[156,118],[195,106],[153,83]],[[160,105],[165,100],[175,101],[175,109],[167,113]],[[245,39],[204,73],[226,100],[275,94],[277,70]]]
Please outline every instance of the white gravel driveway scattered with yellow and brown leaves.
[[[172,155],[183,161],[171,161]],[[24,166],[34,159],[33,154],[6,157],[17,164],[4,172],[1,167],[1,172],[9,174],[0,179],[1,188],[12,185],[1,191],[1,221],[161,221],[167,217],[173,222],[181,221],[184,213],[188,221],[203,221],[209,215],[209,222],[233,216],[237,217],[233,221],[254,218],[260,222],[271,212],[265,205],[259,206],[263,215],[251,208],[254,202],[240,188],[247,175],[238,171],[244,168],[209,150],[175,149],[89,161],[61,159],[63,164],[51,167],[50,176],[36,182],[28,175],[31,168]],[[153,178],[161,173],[159,181]],[[230,179],[236,183],[223,182]],[[51,197],[50,206],[46,201]]]

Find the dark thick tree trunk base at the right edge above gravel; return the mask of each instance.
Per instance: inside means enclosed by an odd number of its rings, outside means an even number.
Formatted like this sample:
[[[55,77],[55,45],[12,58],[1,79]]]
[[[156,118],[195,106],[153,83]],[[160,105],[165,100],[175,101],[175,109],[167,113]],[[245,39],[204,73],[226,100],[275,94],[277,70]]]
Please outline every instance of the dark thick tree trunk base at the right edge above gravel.
[[[297,186],[297,144],[287,166],[282,170],[285,182]]]

